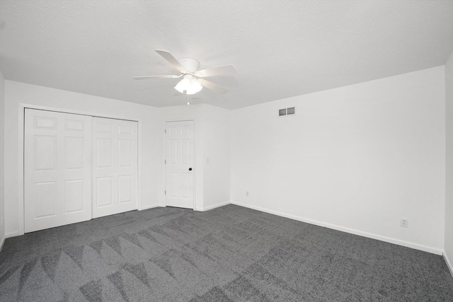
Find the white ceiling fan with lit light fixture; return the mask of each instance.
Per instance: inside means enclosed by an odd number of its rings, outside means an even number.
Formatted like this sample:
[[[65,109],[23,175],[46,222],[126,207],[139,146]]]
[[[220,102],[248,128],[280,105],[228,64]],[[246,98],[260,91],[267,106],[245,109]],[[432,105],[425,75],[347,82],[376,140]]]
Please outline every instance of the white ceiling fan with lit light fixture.
[[[165,50],[156,50],[156,52],[173,65],[173,67],[180,72],[180,75],[134,76],[134,79],[178,79],[182,77],[183,79],[181,79],[181,81],[179,81],[175,86],[175,89],[179,93],[184,93],[185,91],[186,94],[195,94],[201,91],[203,87],[206,87],[219,94],[225,94],[228,92],[228,89],[223,88],[216,83],[212,83],[211,81],[207,81],[204,78],[208,78],[210,76],[231,76],[237,74],[233,65],[224,65],[198,70],[200,62],[196,59],[182,58],[177,60],[170,52],[166,52]]]

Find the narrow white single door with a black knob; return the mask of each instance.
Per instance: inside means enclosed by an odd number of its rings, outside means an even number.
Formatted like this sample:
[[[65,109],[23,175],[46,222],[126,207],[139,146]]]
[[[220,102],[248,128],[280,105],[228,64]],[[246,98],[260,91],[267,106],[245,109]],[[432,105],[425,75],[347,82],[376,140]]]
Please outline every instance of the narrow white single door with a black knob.
[[[193,121],[166,122],[166,205],[194,209]]]

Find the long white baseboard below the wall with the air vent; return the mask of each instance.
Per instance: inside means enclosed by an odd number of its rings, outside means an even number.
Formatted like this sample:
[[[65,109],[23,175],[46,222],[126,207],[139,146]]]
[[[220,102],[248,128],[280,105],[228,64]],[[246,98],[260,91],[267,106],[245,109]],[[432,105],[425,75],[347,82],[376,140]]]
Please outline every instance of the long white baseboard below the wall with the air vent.
[[[235,201],[232,200],[231,204],[236,204],[236,205],[241,206],[241,207],[246,207],[246,208],[249,208],[249,209],[255,209],[255,210],[258,210],[258,211],[263,211],[265,213],[274,214],[274,215],[277,215],[277,216],[282,216],[282,217],[286,217],[286,218],[289,218],[289,219],[294,219],[294,220],[297,220],[297,221],[311,223],[311,224],[314,224],[316,226],[323,226],[323,227],[326,227],[326,228],[332,228],[333,230],[342,231],[342,232],[345,232],[345,233],[351,233],[351,234],[355,234],[355,235],[362,236],[362,237],[367,237],[367,238],[372,238],[372,239],[376,239],[376,240],[381,240],[381,241],[385,241],[387,243],[394,243],[396,245],[403,245],[403,246],[406,246],[406,248],[413,248],[415,250],[423,250],[423,252],[430,252],[430,253],[436,254],[436,255],[442,255],[442,252],[443,252],[443,250],[439,249],[439,248],[432,248],[430,246],[420,245],[418,243],[411,243],[411,242],[408,242],[408,241],[399,240],[399,239],[395,239],[395,238],[390,238],[390,237],[386,237],[386,236],[381,236],[381,235],[377,235],[377,234],[374,234],[374,233],[367,233],[367,232],[363,232],[363,231],[358,231],[358,230],[355,230],[354,228],[345,228],[343,226],[337,226],[336,224],[326,223],[326,222],[322,222],[322,221],[316,221],[316,220],[313,220],[313,219],[307,219],[307,218],[296,216],[296,215],[292,215],[292,214],[282,213],[280,211],[273,211],[273,210],[269,210],[269,209],[264,209],[262,207],[252,206],[250,204],[243,204],[242,202],[235,202]]]

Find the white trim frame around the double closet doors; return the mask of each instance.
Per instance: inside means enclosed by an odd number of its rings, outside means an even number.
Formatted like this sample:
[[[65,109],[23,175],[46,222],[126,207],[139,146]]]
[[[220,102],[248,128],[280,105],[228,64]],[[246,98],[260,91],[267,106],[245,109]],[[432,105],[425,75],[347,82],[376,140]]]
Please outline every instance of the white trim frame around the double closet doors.
[[[137,209],[142,210],[142,119],[125,115],[105,115],[84,110],[62,109],[48,106],[19,103],[18,113],[18,235],[25,233],[25,200],[24,200],[24,139],[25,139],[25,108],[46,110],[74,115],[89,115],[91,117],[105,117],[115,120],[130,120],[137,122]]]

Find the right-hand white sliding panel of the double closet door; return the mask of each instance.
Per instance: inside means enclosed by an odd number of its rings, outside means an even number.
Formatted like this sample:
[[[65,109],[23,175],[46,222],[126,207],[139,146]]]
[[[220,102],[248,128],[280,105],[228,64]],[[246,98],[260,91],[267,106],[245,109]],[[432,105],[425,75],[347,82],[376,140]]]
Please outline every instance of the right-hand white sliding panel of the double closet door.
[[[137,209],[137,122],[93,117],[93,218]]]

